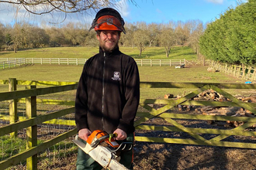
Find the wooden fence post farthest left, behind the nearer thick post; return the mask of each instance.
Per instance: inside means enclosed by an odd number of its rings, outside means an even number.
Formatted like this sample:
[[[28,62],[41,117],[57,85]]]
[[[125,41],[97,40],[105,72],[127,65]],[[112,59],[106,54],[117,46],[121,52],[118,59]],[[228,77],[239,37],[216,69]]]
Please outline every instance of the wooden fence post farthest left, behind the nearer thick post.
[[[17,80],[16,78],[9,79],[9,91],[16,91],[17,90]],[[10,116],[10,124],[14,124],[18,121],[17,115],[17,99],[9,100],[9,116]],[[12,132],[11,138],[17,137],[17,131]]]

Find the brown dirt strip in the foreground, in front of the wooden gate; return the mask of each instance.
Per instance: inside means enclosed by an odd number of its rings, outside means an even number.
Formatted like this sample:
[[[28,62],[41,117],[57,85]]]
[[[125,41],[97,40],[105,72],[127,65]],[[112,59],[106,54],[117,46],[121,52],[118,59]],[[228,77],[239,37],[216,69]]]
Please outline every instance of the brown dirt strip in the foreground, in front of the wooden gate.
[[[256,151],[191,145],[137,143],[134,169],[256,169]]]

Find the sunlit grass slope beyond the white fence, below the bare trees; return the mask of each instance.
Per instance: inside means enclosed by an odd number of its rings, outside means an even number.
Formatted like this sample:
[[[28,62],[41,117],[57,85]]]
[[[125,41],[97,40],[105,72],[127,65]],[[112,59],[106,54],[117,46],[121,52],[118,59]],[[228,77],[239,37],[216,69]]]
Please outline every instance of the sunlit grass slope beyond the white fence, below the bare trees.
[[[139,49],[120,47],[120,50],[135,59],[196,59],[193,50],[187,46],[176,46],[171,49],[169,58],[163,47],[148,47],[139,55]],[[98,47],[57,47],[0,52],[0,58],[83,58],[88,59],[99,52]]]

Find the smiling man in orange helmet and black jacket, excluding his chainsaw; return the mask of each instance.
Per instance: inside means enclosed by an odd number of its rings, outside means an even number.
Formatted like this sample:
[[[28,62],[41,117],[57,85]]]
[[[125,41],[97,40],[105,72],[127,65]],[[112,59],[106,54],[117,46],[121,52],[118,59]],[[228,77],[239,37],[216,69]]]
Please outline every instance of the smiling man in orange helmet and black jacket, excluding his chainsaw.
[[[86,141],[95,130],[116,133],[116,141],[134,141],[133,121],[140,100],[137,63],[119,51],[124,22],[113,8],[103,8],[91,29],[97,32],[99,53],[88,59],[81,73],[75,100],[78,136]],[[132,168],[133,150],[123,151],[120,163]],[[77,169],[102,169],[78,149]]]

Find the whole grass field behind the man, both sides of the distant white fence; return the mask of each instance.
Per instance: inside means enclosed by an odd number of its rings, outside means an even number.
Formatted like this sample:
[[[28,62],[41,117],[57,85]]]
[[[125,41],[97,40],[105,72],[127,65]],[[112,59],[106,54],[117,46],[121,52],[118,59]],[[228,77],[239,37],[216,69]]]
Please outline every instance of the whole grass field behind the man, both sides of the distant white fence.
[[[29,49],[13,52],[1,52],[0,58],[5,57],[68,57],[89,58],[98,52],[93,47],[57,47],[43,49]],[[121,48],[134,58],[137,58],[137,48]],[[166,59],[164,48],[148,47],[145,49],[143,59]],[[195,53],[189,47],[177,46],[171,49],[170,59],[196,59]],[[24,66],[9,70],[0,70],[0,80],[16,78],[17,80],[45,80],[45,81],[75,81],[79,80],[82,66],[57,66],[57,65],[34,65]],[[223,75],[223,73],[209,73],[207,66],[193,66],[184,69],[175,69],[175,66],[139,66],[140,81],[150,82],[220,82],[220,83],[242,83],[234,77]],[[21,87],[23,88],[23,87]],[[0,86],[0,91],[8,90],[6,86]],[[165,93],[181,95],[183,89],[141,89],[142,98],[162,98]],[[190,90],[189,90],[190,91]],[[189,92],[187,90],[187,92]],[[73,97],[72,97],[73,99]]]

